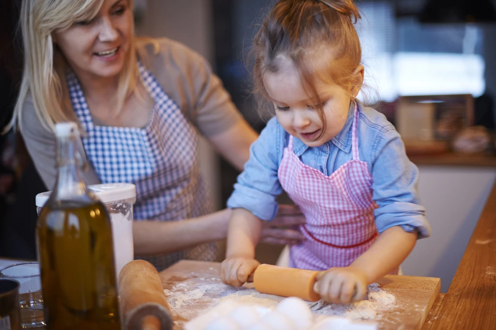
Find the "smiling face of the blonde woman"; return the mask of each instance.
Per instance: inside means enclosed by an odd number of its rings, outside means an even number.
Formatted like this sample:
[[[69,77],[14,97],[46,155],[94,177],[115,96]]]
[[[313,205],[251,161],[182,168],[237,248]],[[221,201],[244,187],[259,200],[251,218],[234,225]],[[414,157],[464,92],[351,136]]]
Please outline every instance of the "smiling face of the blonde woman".
[[[78,77],[115,78],[129,52],[132,19],[128,0],[104,0],[95,18],[55,32],[54,41]]]

